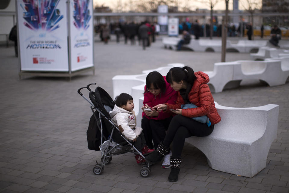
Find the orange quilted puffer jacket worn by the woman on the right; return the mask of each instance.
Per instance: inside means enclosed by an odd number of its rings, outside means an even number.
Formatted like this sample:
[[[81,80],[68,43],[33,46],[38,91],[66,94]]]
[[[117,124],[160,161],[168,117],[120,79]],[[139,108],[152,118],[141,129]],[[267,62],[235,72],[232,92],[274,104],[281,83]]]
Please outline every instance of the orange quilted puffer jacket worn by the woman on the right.
[[[185,117],[200,117],[207,115],[209,117],[212,125],[221,121],[221,117],[217,112],[215,107],[214,99],[207,83],[210,81],[208,74],[204,72],[196,72],[195,76],[197,79],[194,81],[194,84],[189,92],[189,100],[194,105],[198,106],[191,109],[182,109],[182,115]],[[180,109],[182,104],[185,104],[184,99],[178,91],[178,98],[176,104],[168,104],[166,112],[169,109]]]

